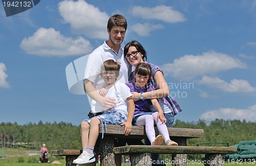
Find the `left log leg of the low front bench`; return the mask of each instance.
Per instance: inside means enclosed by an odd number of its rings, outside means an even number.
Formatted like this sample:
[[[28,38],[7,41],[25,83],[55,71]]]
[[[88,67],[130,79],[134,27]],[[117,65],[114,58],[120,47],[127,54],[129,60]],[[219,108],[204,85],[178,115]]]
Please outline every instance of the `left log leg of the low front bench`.
[[[152,166],[151,153],[131,154],[131,166]]]

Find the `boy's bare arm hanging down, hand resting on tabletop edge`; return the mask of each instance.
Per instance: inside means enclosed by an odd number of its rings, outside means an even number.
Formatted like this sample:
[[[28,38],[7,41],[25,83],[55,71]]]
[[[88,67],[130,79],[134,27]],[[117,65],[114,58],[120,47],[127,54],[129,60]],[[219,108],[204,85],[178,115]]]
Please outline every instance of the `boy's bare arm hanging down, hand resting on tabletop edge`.
[[[135,110],[135,105],[133,102],[132,97],[126,99],[127,105],[128,105],[128,116],[127,121],[125,123],[122,123],[121,126],[125,126],[124,128],[124,134],[128,135],[132,131],[132,121],[133,121],[133,115]]]

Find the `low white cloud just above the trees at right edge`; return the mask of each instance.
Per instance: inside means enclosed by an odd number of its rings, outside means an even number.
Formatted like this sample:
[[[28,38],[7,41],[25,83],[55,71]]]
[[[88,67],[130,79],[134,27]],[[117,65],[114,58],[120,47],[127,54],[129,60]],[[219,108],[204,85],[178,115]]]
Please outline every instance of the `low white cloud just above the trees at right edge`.
[[[248,107],[246,109],[236,108],[219,108],[203,113],[200,118],[206,121],[212,121],[216,118],[223,118],[224,120],[246,120],[251,122],[255,121],[256,116],[256,105]]]

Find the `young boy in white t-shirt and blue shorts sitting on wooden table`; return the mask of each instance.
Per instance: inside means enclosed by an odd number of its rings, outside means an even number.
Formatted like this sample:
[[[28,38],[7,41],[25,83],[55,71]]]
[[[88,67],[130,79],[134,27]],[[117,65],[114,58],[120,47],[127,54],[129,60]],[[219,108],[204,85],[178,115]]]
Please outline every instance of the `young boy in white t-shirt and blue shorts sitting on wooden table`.
[[[112,59],[103,62],[100,76],[105,82],[105,96],[116,99],[116,107],[104,110],[101,115],[94,116],[81,123],[81,139],[83,152],[73,161],[76,164],[90,164],[95,161],[94,146],[99,135],[99,124],[112,124],[125,126],[124,134],[132,130],[134,102],[129,87],[116,82],[119,76],[120,64]],[[127,106],[129,107],[127,111]],[[96,104],[96,109],[103,108]]]

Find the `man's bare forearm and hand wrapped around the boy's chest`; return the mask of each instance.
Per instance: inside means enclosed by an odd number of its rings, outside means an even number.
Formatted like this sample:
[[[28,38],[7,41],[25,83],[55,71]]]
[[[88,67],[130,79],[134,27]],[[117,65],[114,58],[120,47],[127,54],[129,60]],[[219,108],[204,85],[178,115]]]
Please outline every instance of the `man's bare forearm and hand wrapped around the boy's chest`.
[[[95,100],[100,104],[101,107],[106,109],[111,109],[116,106],[115,99],[111,97],[102,97],[100,94],[96,91],[95,87],[93,86],[93,82],[89,81],[88,79],[84,79],[83,84],[84,91],[88,94],[88,96]]]

